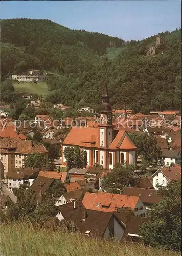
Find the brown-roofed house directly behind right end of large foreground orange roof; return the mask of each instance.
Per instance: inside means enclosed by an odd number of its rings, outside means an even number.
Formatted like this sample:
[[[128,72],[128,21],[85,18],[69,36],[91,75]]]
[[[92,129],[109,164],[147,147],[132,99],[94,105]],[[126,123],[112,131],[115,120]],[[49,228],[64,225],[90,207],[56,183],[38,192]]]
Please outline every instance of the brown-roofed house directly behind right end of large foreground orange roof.
[[[161,196],[155,189],[125,187],[123,195],[139,197],[146,210],[150,210],[153,204],[157,204],[161,200]]]

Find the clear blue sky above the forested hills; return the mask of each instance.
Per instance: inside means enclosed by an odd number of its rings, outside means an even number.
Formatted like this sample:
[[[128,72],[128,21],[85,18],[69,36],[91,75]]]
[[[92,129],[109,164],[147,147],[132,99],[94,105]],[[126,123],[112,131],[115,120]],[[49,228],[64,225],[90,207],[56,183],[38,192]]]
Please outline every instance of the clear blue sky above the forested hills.
[[[1,1],[0,18],[50,19],[124,40],[141,40],[181,27],[181,0]]]

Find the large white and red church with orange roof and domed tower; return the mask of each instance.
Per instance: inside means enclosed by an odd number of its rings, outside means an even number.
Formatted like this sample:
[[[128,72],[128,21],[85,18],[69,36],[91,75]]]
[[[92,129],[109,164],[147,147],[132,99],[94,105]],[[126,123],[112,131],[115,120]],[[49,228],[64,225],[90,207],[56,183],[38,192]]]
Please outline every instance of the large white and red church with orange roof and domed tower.
[[[87,153],[88,167],[96,163],[105,169],[113,169],[116,163],[135,165],[136,151],[126,131],[115,130],[112,123],[112,107],[107,93],[102,95],[97,127],[72,127],[62,142],[62,165],[66,165],[66,147],[79,146]]]

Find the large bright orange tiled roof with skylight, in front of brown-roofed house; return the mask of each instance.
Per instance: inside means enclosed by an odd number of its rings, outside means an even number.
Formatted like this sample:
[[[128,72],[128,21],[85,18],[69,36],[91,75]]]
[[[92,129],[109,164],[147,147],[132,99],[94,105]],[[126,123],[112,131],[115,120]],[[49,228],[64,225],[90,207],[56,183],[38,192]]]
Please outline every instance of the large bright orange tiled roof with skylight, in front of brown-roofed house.
[[[82,203],[86,209],[113,212],[116,210],[115,208],[123,207],[129,207],[134,210],[138,200],[139,197],[128,197],[127,195],[99,191],[97,194],[86,192]]]

